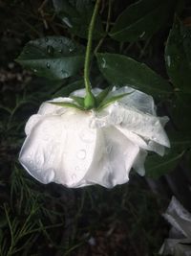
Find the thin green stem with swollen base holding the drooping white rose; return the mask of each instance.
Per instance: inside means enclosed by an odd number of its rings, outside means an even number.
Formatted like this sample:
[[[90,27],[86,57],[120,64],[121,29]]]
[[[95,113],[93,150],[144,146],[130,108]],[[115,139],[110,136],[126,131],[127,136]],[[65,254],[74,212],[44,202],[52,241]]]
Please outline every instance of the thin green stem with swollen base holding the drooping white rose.
[[[90,83],[90,58],[91,58],[91,50],[92,50],[92,40],[93,40],[93,31],[96,22],[96,14],[98,12],[98,7],[101,0],[96,0],[95,10],[93,12],[93,16],[90,22],[89,30],[88,30],[88,43],[86,48],[86,56],[85,56],[85,64],[84,64],[84,83],[86,88],[86,97],[84,101],[84,105],[87,108],[94,107],[96,105],[96,99],[91,91],[91,83]]]

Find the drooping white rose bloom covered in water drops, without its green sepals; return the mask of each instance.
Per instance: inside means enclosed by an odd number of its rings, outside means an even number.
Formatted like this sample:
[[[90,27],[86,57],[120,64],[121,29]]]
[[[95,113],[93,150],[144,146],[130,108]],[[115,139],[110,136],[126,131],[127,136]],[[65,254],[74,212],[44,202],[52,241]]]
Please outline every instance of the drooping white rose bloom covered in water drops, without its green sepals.
[[[100,91],[96,88],[93,93]],[[151,96],[131,87],[114,88],[107,97],[129,92],[100,111],[43,103],[26,125],[20,163],[42,183],[71,188],[93,184],[112,188],[128,181],[132,167],[144,175],[147,151],[163,155],[164,147],[170,147],[163,129],[168,118],[156,115]],[[73,95],[84,96],[85,90]]]

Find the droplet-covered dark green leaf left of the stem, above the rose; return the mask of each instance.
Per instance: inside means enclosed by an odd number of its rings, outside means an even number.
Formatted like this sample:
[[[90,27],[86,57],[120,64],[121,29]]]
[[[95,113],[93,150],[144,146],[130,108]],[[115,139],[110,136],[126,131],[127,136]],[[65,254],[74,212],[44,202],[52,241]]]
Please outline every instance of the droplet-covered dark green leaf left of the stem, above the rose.
[[[73,76],[84,62],[83,48],[63,36],[48,36],[27,43],[16,59],[40,77],[63,80]]]

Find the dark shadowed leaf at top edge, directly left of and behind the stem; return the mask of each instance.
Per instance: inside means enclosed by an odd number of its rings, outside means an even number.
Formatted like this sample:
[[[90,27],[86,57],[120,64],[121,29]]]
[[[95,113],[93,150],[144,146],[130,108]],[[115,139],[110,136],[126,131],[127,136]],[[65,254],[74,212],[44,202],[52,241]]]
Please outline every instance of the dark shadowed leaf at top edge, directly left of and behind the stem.
[[[82,38],[88,37],[88,28],[94,11],[91,0],[53,0],[55,12],[70,32]],[[101,19],[96,17],[94,38],[99,39],[104,35]]]

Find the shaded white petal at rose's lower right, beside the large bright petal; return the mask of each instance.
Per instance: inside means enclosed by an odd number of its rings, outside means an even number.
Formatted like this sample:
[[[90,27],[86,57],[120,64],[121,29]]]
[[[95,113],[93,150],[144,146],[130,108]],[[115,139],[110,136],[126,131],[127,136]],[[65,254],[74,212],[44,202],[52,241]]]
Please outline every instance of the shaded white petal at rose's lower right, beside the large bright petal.
[[[112,188],[128,181],[139,148],[116,128],[98,131],[94,162],[85,179]]]

